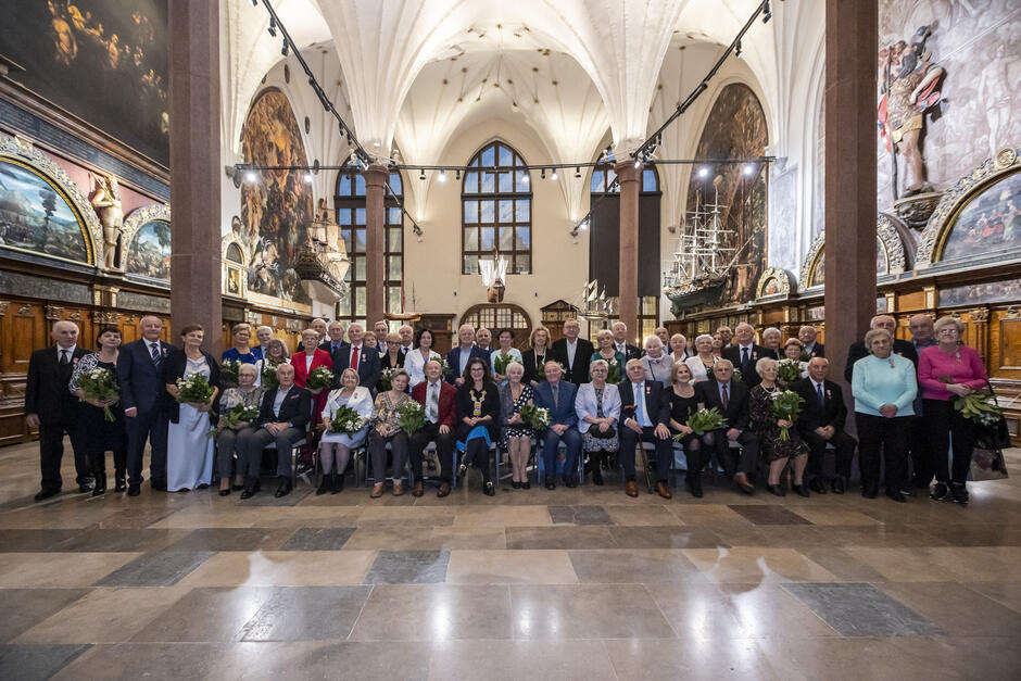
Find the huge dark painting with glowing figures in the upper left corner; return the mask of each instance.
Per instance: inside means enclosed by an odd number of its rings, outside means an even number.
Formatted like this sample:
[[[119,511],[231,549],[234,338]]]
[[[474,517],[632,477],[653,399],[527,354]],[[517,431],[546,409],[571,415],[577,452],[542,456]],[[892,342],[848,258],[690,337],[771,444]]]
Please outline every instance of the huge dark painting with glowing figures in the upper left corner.
[[[169,165],[166,0],[9,0],[11,78]]]

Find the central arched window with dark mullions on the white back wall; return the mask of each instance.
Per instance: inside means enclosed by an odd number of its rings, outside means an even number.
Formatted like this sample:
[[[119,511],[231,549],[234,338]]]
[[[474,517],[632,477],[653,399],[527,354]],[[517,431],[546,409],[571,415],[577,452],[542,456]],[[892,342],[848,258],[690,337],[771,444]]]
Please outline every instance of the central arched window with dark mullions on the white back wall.
[[[461,273],[500,254],[508,274],[532,272],[532,190],[525,160],[504,142],[487,144],[468,163],[462,185]]]

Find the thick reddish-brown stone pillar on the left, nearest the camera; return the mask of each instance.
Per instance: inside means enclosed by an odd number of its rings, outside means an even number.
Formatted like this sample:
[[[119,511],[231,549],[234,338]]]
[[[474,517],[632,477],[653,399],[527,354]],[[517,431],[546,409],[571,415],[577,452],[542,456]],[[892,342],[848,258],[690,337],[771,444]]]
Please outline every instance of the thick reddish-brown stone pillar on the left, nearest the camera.
[[[223,349],[220,312],[219,3],[171,0],[171,315]]]

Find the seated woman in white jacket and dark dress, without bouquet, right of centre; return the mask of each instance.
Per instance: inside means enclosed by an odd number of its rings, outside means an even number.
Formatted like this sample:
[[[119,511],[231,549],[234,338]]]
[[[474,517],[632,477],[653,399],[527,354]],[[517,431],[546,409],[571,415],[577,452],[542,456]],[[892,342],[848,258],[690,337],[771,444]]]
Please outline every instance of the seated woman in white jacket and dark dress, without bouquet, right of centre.
[[[659,341],[655,336],[650,338]],[[663,343],[659,343],[659,348],[663,348]],[[608,370],[609,366],[604,360],[596,360],[589,365],[592,381],[582,383],[575,398],[578,431],[581,433],[582,449],[589,455],[593,484],[603,484],[603,463],[620,446],[617,441],[620,393],[617,392],[617,386],[606,382]]]

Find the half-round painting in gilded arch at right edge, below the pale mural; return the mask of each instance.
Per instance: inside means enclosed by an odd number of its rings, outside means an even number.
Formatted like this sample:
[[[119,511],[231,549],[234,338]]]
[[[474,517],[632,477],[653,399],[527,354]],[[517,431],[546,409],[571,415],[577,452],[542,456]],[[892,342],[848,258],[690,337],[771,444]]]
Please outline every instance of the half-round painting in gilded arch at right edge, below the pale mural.
[[[961,209],[941,261],[1021,249],[1021,172],[987,187]]]

